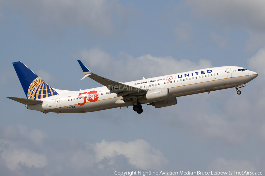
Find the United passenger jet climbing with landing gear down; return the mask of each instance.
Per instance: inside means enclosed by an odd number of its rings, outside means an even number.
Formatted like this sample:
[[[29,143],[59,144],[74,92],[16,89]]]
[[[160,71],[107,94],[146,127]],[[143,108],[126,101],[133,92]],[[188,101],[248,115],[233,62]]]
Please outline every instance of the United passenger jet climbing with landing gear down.
[[[43,113],[83,113],[132,106],[138,114],[142,104],[161,108],[177,104],[177,97],[228,89],[238,90],[256,78],[256,72],[243,67],[213,67],[189,72],[152,77],[131,82],[116,82],[92,73],[77,60],[85,76],[102,87],[68,91],[50,87],[22,62],[13,62],[14,69],[27,99],[7,97],[25,104],[27,109]],[[82,80],[81,79],[81,80]]]

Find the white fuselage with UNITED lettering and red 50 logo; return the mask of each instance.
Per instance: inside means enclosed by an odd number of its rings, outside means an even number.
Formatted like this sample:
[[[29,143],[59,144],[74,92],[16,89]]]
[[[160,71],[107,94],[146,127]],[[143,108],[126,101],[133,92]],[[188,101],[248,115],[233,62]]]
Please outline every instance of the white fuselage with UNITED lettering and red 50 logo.
[[[148,91],[166,87],[169,89],[170,98],[174,98],[235,87],[246,84],[257,76],[256,72],[250,70],[238,71],[238,69],[242,69],[242,67],[214,67],[141,79],[125,82],[123,84],[141,89],[148,89]],[[122,106],[133,106],[133,101],[124,101],[122,96],[117,97],[115,93],[107,94],[109,91],[110,90],[105,86],[75,92],[60,92],[60,90],[58,90],[58,95],[40,99],[43,101],[41,104],[27,105],[27,108],[44,113],[79,113],[100,111]],[[89,92],[91,92],[90,97],[88,95]],[[143,97],[139,98],[138,102],[141,104],[151,103]]]

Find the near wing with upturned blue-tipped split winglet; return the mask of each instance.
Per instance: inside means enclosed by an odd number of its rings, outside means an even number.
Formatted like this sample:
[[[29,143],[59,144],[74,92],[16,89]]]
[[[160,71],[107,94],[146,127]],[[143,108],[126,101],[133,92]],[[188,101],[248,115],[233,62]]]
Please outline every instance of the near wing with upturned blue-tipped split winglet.
[[[143,95],[147,92],[145,89],[140,89],[137,87],[129,86],[126,84],[122,84],[120,82],[112,81],[110,79],[101,77],[99,75],[96,75],[88,70],[88,68],[81,62],[81,60],[77,60],[78,63],[80,64],[83,72],[85,73],[85,76],[82,78],[84,79],[85,77],[90,77],[91,79],[95,80],[96,82],[106,86],[110,92],[108,93],[116,93],[118,96],[125,96],[127,94],[138,96],[138,95]],[[81,80],[82,80],[81,79]]]

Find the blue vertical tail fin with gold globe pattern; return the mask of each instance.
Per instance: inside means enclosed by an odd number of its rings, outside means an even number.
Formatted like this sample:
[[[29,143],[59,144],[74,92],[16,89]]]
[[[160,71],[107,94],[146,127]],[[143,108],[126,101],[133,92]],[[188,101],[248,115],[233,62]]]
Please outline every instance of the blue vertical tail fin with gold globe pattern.
[[[58,94],[22,62],[12,64],[28,99],[42,99]]]

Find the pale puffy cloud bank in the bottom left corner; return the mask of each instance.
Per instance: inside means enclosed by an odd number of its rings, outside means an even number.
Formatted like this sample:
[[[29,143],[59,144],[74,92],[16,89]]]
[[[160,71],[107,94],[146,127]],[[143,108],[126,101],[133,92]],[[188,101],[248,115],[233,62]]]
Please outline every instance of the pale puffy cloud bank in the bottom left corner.
[[[39,130],[28,133],[27,128],[22,125],[6,127],[0,136],[0,161],[2,160],[0,163],[4,163],[10,170],[19,170],[20,165],[29,168],[46,166],[47,158],[45,155],[32,151],[23,142],[21,143],[21,141],[29,139],[36,144],[40,144],[46,135],[44,134]]]

